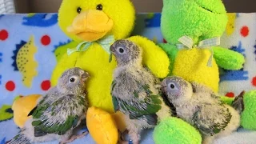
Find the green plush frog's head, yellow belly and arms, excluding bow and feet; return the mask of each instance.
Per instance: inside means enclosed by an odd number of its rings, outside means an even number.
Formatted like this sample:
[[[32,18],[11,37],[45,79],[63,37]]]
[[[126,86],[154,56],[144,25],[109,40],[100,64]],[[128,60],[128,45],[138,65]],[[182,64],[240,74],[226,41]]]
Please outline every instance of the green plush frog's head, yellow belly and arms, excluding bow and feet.
[[[242,54],[213,46],[217,66],[213,60],[213,66],[208,67],[203,63],[207,65],[206,58],[209,58],[211,48],[198,49],[198,53],[195,53],[186,48],[175,50],[175,46],[180,43],[178,39],[182,36],[192,38],[194,45],[202,40],[221,37],[227,20],[221,0],[164,0],[161,29],[168,44],[160,46],[171,58],[170,74],[181,76],[189,82],[205,84],[218,92],[218,66],[226,70],[239,70],[244,63]]]

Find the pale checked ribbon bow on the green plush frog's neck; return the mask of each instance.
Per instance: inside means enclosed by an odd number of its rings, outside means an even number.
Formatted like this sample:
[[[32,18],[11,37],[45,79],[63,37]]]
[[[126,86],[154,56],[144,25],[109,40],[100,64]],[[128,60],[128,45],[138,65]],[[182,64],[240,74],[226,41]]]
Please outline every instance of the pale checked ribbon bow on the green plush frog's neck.
[[[183,36],[182,38],[178,39],[178,42],[181,42],[181,44],[177,44],[178,49],[183,49],[185,47],[192,49],[194,47],[202,48],[202,49],[210,49],[210,58],[207,62],[207,66],[212,67],[212,62],[214,58],[214,50],[212,49],[211,46],[218,46],[221,43],[221,40],[219,37],[217,38],[210,38],[210,39],[205,39],[202,40],[201,42],[198,43],[197,45],[194,45],[194,41],[192,38],[188,36]]]

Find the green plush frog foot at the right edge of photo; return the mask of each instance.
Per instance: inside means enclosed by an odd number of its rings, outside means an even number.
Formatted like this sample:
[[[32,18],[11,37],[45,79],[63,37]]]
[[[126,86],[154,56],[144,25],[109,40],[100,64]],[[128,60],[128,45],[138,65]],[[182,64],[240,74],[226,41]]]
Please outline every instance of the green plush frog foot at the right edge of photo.
[[[256,130],[256,90],[244,95],[245,110],[241,115],[241,126],[248,130]]]

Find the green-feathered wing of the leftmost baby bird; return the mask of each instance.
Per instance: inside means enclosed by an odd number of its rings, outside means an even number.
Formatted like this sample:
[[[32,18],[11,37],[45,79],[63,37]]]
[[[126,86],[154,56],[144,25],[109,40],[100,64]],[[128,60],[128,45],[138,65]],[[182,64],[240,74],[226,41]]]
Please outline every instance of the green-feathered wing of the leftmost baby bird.
[[[48,95],[48,98],[50,95]],[[56,96],[55,96],[56,97]],[[43,99],[38,103],[37,108],[32,114],[34,121],[35,136],[43,136],[46,134],[66,134],[66,131],[77,126],[80,116],[78,114],[70,113],[63,116],[57,116],[58,113],[62,113],[62,110],[74,110],[74,107],[67,107],[69,104],[63,104],[65,97],[60,97],[54,102],[46,102],[47,99]],[[82,100],[82,99],[81,99]],[[72,109],[72,110],[71,110]]]

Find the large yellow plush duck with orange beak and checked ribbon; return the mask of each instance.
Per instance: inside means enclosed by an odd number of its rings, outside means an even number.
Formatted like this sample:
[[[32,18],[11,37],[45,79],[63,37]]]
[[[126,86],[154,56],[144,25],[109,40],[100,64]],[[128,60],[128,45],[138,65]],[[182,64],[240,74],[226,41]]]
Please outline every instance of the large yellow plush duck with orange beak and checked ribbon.
[[[51,78],[52,86],[60,75],[71,67],[90,73],[86,84],[91,108],[87,112],[87,126],[97,143],[117,143],[118,126],[114,114],[110,86],[116,62],[109,62],[110,45],[128,38],[134,28],[135,10],[130,0],[63,0],[58,24],[74,41],[55,50],[58,64]],[[143,63],[158,78],[169,73],[169,58],[158,46],[146,38],[128,38],[143,49]],[[118,125],[118,126],[117,126]]]

